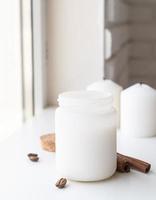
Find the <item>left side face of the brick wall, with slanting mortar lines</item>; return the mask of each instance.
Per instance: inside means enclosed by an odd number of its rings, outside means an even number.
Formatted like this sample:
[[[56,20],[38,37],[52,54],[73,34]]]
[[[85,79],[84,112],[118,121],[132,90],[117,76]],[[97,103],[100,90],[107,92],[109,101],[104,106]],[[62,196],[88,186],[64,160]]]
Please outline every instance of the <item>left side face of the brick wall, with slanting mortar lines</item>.
[[[122,0],[107,0],[106,78],[126,87],[130,47],[129,5]]]

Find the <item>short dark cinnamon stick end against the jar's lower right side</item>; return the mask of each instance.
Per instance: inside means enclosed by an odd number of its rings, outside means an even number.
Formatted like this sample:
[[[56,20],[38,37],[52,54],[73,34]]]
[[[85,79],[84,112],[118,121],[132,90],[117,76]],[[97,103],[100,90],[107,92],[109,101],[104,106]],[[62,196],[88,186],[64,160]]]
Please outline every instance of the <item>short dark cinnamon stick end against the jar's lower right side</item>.
[[[116,171],[121,172],[121,173],[130,172],[130,165],[125,160],[125,158],[123,158],[121,156],[117,156],[117,169],[116,169]]]

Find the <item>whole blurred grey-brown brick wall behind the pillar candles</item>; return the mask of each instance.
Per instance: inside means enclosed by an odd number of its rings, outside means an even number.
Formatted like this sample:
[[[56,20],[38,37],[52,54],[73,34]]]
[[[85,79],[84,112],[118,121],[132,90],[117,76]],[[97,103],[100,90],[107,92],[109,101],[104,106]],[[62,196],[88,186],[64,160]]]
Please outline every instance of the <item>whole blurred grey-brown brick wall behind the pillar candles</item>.
[[[156,88],[156,0],[106,0],[105,74]]]

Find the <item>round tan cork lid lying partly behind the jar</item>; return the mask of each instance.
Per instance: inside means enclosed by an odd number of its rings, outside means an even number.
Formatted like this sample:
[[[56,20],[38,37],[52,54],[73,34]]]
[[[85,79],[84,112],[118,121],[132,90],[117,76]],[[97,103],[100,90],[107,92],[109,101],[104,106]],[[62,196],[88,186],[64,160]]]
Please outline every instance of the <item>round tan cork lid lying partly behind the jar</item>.
[[[55,133],[42,135],[40,137],[41,146],[44,150],[55,152]]]

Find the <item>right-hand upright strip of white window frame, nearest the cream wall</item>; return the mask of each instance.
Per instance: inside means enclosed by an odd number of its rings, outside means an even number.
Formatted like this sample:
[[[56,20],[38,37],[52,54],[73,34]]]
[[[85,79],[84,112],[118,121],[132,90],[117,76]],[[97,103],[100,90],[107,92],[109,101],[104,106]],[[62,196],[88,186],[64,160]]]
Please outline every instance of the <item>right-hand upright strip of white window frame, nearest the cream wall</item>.
[[[46,1],[31,0],[34,74],[34,114],[47,106]]]

